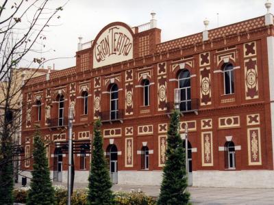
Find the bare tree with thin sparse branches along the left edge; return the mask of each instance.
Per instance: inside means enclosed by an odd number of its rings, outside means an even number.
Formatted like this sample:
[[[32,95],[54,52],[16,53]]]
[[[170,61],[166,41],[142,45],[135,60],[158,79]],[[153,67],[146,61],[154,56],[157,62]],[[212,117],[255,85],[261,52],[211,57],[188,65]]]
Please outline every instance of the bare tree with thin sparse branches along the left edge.
[[[0,204],[12,204],[14,154],[18,154],[22,122],[21,88],[45,61],[38,48],[45,46],[49,23],[58,20],[69,0],[56,8],[50,0],[0,0]],[[32,60],[28,60],[32,56]],[[22,62],[27,68],[18,69]],[[36,67],[29,72],[30,67]],[[19,159],[16,159],[19,160]]]

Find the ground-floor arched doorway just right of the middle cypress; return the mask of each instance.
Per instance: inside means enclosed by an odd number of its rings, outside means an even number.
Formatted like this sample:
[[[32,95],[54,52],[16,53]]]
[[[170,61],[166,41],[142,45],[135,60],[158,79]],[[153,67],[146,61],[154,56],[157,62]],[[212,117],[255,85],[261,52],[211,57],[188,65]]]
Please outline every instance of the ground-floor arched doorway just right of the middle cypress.
[[[117,174],[117,159],[118,159],[118,151],[117,147],[114,144],[110,144],[107,148],[107,159],[110,163],[110,179],[113,184],[117,184],[118,182],[118,174]]]

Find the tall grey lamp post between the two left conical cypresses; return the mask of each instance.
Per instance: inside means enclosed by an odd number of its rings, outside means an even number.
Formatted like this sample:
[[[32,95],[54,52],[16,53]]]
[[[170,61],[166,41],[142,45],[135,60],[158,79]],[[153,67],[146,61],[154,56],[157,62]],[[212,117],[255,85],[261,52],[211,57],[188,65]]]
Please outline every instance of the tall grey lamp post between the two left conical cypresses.
[[[69,107],[69,173],[68,173],[68,205],[71,205],[71,174],[72,174],[72,159],[73,159],[73,113],[74,108]]]

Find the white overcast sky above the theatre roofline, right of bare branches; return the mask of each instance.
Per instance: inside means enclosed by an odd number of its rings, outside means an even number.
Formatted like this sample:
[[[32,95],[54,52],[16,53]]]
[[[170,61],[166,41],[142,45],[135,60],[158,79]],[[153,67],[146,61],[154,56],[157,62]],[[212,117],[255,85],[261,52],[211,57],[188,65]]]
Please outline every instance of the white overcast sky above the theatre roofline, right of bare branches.
[[[60,25],[51,27],[47,33],[45,49],[52,50],[45,57],[72,58],[51,61],[45,68],[53,63],[57,69],[75,66],[78,37],[82,36],[83,42],[93,40],[105,25],[114,21],[134,27],[148,23],[153,10],[164,42],[203,31],[205,18],[210,20],[209,29],[217,27],[217,13],[219,27],[262,16],[266,14],[264,3],[264,0],[70,0],[60,13]]]

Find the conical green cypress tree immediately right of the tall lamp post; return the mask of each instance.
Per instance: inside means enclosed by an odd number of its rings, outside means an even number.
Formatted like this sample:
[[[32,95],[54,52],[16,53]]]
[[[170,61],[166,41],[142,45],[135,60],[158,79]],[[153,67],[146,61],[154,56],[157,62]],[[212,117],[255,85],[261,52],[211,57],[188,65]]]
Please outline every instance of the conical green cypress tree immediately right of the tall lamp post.
[[[94,139],[92,144],[92,161],[88,178],[88,204],[114,204],[114,195],[110,190],[110,172],[103,154],[103,139],[101,136],[101,121],[94,124]]]

